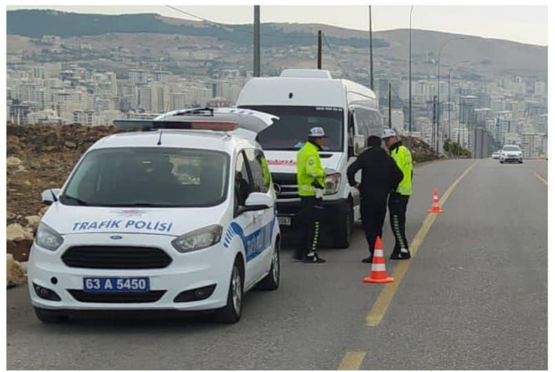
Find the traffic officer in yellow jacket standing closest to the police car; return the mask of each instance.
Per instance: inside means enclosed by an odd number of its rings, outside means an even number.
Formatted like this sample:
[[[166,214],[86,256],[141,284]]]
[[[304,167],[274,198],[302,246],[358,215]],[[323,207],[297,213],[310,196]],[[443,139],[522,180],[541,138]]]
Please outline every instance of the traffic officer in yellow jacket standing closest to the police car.
[[[318,152],[324,145],[325,137],[322,127],[311,128],[309,141],[306,141],[297,153],[297,185],[304,222],[304,242],[298,246],[294,258],[311,263],[326,262],[318,257],[322,196],[326,180],[326,171],[320,163]]]

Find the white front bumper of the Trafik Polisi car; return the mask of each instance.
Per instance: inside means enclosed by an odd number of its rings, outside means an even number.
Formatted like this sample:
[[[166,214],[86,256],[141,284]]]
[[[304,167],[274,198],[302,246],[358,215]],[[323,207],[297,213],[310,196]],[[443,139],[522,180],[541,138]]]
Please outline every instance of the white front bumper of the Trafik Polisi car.
[[[204,311],[226,305],[231,265],[224,260],[222,242],[180,253],[171,245],[172,236],[120,234],[127,247],[156,247],[171,258],[166,267],[157,269],[91,269],[70,267],[62,256],[70,247],[114,245],[107,234],[72,234],[64,236],[64,245],[49,251],[32,245],[28,264],[28,286],[33,306],[59,310],[179,310]],[[148,244],[145,244],[148,241]],[[148,278],[148,292],[90,292],[84,291],[84,278]],[[215,286],[215,287],[214,287]],[[56,296],[44,296],[48,289]],[[202,292],[195,292],[202,289]],[[206,296],[195,300],[198,293]],[[180,293],[185,296],[177,298]],[[41,293],[43,296],[39,296]],[[44,298],[46,297],[46,298]],[[202,296],[200,296],[202,298]],[[55,300],[52,300],[55,298]],[[186,302],[179,302],[183,299]]]

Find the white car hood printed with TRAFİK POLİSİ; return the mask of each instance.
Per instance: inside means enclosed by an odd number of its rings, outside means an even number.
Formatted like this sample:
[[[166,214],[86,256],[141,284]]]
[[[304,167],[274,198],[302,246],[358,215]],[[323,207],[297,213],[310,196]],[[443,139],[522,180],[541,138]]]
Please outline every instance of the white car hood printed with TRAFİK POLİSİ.
[[[206,208],[113,208],[50,206],[43,223],[61,235],[67,234],[156,234],[181,236],[220,223],[224,205]]]

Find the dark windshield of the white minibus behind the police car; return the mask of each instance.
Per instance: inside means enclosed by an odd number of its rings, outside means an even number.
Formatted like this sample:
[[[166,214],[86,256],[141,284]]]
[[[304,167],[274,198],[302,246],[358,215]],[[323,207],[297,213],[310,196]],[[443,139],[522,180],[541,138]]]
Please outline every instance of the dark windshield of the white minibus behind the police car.
[[[311,127],[322,127],[328,138],[324,151],[343,149],[343,109],[311,106],[241,106],[279,116],[280,120],[257,136],[264,150],[297,151],[306,141]]]

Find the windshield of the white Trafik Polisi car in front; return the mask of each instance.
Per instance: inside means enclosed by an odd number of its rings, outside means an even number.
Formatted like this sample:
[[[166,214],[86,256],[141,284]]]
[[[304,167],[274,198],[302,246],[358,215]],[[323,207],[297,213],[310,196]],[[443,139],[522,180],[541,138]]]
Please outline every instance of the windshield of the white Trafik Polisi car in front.
[[[60,201],[95,207],[210,207],[226,198],[229,156],[204,149],[97,149]]]

